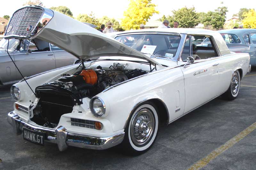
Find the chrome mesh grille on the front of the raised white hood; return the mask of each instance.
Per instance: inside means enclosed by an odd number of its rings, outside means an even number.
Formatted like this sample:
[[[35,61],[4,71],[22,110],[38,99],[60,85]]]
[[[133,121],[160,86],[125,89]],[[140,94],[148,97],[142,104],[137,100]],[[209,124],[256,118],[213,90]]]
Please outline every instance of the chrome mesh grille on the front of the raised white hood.
[[[28,37],[31,34],[31,31],[28,32],[27,27],[32,25],[34,29],[43,13],[43,9],[36,7],[25,7],[16,11],[8,26],[8,28],[12,26],[12,29],[8,33],[6,31],[5,36],[19,35]]]

